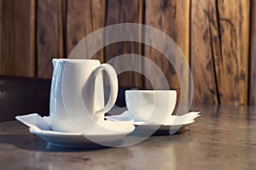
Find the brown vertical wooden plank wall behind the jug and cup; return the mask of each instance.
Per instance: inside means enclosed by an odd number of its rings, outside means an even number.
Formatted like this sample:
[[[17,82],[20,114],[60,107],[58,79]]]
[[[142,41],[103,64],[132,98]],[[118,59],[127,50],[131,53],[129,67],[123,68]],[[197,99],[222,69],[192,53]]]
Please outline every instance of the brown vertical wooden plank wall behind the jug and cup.
[[[86,35],[103,26],[141,23],[164,31],[189,61],[194,103],[256,105],[254,0],[1,0],[1,74],[51,77],[52,58],[67,58]],[[162,54],[136,42],[118,42],[94,58],[142,54],[178,89]],[[142,67],[147,69],[147,65]],[[142,75],[119,75],[120,86],[150,88]]]

